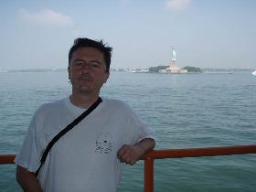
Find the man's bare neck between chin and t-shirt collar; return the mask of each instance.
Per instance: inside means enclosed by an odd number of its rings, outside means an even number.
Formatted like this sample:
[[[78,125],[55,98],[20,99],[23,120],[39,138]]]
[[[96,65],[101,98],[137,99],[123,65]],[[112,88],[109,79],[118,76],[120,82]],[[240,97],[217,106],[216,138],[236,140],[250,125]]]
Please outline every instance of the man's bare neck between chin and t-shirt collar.
[[[97,101],[98,98],[99,98],[99,94],[97,94],[97,95],[80,95],[80,94],[72,93],[69,96],[69,99],[73,105],[80,107],[80,108],[84,108],[84,109],[88,109],[89,107],[91,107],[91,105],[95,101]]]

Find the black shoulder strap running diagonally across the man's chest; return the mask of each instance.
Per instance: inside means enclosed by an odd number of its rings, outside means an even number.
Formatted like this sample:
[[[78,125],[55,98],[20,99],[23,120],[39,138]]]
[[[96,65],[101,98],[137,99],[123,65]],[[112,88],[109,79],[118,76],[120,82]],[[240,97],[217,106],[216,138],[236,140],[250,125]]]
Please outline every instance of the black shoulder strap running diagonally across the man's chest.
[[[101,97],[99,97],[98,100],[95,101],[90,108],[88,108],[88,110],[86,110],[85,112],[82,112],[79,117],[77,117],[72,123],[69,123],[69,125],[65,129],[61,130],[57,135],[55,135],[55,137],[53,137],[53,139],[48,143],[48,146],[41,157],[41,160],[40,160],[41,165],[38,167],[37,171],[35,172],[36,176],[38,175],[42,165],[44,165],[51,147],[59,140],[60,137],[68,133],[74,126],[80,123],[80,121],[82,121],[93,110],[95,110],[98,107],[98,105],[101,103],[101,101],[102,101]]]

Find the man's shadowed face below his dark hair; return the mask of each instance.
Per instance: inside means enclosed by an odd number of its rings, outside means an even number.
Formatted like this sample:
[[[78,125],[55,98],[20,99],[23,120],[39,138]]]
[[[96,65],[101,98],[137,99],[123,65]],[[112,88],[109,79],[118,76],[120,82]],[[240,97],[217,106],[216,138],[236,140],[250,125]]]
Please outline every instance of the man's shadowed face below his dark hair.
[[[109,78],[103,53],[96,48],[79,48],[69,63],[69,80],[73,93],[99,94],[101,86]]]

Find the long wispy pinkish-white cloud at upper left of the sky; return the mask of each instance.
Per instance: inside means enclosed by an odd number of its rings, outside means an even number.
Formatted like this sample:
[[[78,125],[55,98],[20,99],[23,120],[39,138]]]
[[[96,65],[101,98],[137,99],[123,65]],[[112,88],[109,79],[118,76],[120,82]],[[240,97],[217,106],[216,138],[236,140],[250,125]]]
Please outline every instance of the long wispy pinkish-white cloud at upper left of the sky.
[[[54,26],[72,26],[73,25],[73,20],[70,16],[65,16],[60,14],[59,12],[55,12],[49,9],[44,9],[41,12],[37,12],[37,13],[28,13],[27,10],[20,9],[19,15],[28,21],[43,23],[47,25],[54,25]]]

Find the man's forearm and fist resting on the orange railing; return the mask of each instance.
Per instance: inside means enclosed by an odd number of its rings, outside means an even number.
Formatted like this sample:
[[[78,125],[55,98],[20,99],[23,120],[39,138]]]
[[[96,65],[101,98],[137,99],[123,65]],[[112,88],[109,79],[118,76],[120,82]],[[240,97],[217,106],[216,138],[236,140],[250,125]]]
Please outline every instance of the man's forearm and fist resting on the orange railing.
[[[133,165],[135,164],[143,155],[145,155],[150,150],[154,149],[155,140],[151,138],[145,138],[138,144],[128,145],[124,144],[121,149],[117,152],[117,158],[121,162]]]

